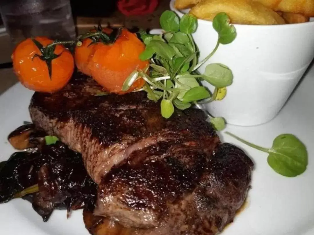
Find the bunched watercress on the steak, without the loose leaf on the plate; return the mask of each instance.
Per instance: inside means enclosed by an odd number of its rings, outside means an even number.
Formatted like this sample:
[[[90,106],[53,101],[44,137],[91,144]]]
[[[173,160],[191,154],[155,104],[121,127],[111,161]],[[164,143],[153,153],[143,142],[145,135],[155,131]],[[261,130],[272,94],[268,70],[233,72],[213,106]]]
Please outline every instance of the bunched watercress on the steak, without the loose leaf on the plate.
[[[127,91],[138,77],[143,77],[146,81],[143,90],[147,92],[147,97],[154,102],[162,99],[161,114],[164,118],[170,118],[174,107],[184,110],[198,101],[211,98],[213,94],[216,96],[219,88],[231,85],[232,72],[225,65],[209,64],[204,74],[199,74],[196,70],[215,53],[219,44],[231,43],[236,32],[229,24],[226,14],[217,14],[213,21],[214,29],[219,35],[217,45],[210,55],[198,62],[199,53],[192,38],[197,29],[197,18],[185,14],[180,19],[175,12],[165,11],[160,17],[160,25],[165,31],[161,35],[140,33],[146,45],[140,59],[151,60],[147,68],[149,74],[146,70],[135,70],[124,82],[122,90]],[[201,86],[201,81],[215,86],[216,93]],[[215,97],[212,97],[208,102],[214,100]],[[217,129],[225,126],[222,118],[211,120]]]

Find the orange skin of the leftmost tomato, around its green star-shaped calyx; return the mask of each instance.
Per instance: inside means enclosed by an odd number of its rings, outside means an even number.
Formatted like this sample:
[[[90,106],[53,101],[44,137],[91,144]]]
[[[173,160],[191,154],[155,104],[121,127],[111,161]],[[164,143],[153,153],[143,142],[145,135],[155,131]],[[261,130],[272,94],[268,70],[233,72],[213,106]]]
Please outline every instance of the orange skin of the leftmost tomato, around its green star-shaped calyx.
[[[36,37],[43,46],[53,41],[46,37]],[[45,61],[35,54],[40,50],[31,39],[26,39],[14,49],[11,56],[13,69],[19,81],[28,89],[40,92],[55,92],[62,89],[70,80],[74,71],[74,59],[63,45],[57,45],[54,53],[60,55],[51,62],[51,77]]]

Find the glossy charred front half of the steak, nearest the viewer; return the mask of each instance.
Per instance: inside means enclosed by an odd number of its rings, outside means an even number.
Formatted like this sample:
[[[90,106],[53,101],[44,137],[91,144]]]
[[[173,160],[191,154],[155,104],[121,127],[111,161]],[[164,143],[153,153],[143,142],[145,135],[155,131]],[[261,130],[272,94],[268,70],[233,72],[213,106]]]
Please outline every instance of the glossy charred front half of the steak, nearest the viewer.
[[[133,154],[103,178],[94,211],[124,227],[193,225],[184,231],[214,234],[232,222],[251,182],[252,161],[227,143],[213,154],[186,143],[159,143]],[[194,233],[195,226],[209,227]]]

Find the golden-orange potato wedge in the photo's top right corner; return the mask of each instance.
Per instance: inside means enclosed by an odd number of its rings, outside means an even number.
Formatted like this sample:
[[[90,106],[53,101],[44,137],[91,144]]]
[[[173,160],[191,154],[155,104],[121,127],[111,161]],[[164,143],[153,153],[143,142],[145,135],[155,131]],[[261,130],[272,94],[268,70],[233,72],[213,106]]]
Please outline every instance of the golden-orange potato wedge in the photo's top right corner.
[[[314,16],[314,0],[254,0],[274,11]]]

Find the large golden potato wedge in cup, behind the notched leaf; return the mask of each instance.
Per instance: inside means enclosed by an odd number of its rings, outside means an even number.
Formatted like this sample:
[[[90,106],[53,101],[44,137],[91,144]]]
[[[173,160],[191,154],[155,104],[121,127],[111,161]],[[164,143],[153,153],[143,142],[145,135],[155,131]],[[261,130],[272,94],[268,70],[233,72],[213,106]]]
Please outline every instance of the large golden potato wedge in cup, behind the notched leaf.
[[[213,20],[220,12],[227,13],[233,24],[285,24],[276,12],[251,0],[204,0],[190,10],[205,20]]]

